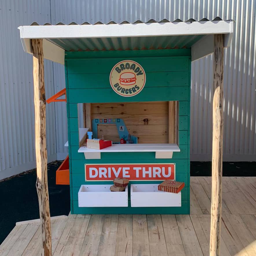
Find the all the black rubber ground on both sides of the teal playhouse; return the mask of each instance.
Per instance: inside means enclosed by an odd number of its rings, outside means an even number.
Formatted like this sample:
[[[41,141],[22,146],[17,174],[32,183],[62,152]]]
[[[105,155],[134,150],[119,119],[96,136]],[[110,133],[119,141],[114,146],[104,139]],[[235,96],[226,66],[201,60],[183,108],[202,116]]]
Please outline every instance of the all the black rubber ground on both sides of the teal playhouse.
[[[51,216],[68,215],[70,194],[68,185],[56,185],[56,170],[61,161],[48,165],[48,186]],[[211,176],[211,162],[191,162],[191,176]],[[224,162],[223,176],[256,176],[256,162]],[[0,244],[15,223],[39,218],[36,193],[36,171],[0,181]]]

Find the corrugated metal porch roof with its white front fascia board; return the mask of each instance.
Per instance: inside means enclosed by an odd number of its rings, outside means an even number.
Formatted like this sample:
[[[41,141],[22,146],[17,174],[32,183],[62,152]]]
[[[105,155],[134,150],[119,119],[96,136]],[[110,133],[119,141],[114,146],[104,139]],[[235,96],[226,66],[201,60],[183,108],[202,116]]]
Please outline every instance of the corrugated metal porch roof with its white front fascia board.
[[[207,18],[203,18],[198,21],[195,19],[188,19],[186,21],[182,21],[181,19],[175,19],[173,21],[169,21],[168,19],[162,19],[161,21],[149,19],[146,22],[143,22],[142,20],[136,20],[134,22],[122,21],[119,23],[115,21],[109,21],[108,23],[103,23],[102,21],[97,21],[95,23],[83,22],[81,24],[75,22],[71,22],[69,24],[58,22],[56,23],[56,25],[52,25],[51,23],[44,23],[43,25],[39,25],[38,23],[33,22],[30,26],[25,26],[24,30],[28,27],[31,27],[31,32],[26,33],[27,38],[33,38],[33,36],[34,38],[45,38],[48,41],[54,43],[55,45],[58,45],[62,49],[65,49],[65,51],[180,49],[191,48],[191,46],[198,40],[200,40],[203,36],[221,31],[222,25],[219,24],[220,22],[229,23],[231,21],[232,20],[224,21],[217,16],[211,21]],[[148,30],[148,26],[139,26],[140,29],[136,30],[136,32],[131,35],[131,31],[135,30],[135,27],[130,27],[131,25],[133,26],[135,24],[149,24],[150,26],[150,24],[152,23],[159,24],[159,27],[154,30],[156,34],[143,34],[143,31]],[[168,23],[171,23],[172,25],[167,25]],[[180,23],[183,23],[184,26]],[[190,25],[190,23],[197,23],[200,25],[196,27],[192,24]],[[210,25],[211,28],[208,28],[208,30],[207,28],[204,29],[209,25],[209,23],[215,27]],[[130,26],[127,27],[127,24],[128,26]],[[90,27],[86,27],[87,25]],[[97,25],[107,27],[102,27],[102,29],[98,29],[99,27]],[[110,29],[108,26],[111,25],[115,27],[111,27]],[[117,25],[121,25],[124,27],[116,27]],[[38,26],[38,29],[32,29],[34,26]],[[49,26],[49,30],[45,30],[45,26]],[[60,27],[58,27],[58,29],[53,29],[53,27],[56,26]],[[63,28],[64,26],[73,26],[73,28],[70,30],[67,28]],[[76,26],[79,26],[80,28],[76,30]],[[95,26],[95,29],[97,28],[97,32],[92,33],[92,31],[95,31],[94,27],[92,28],[92,26]],[[219,28],[218,30],[216,30],[216,26]],[[193,27],[196,27],[196,29],[193,29]],[[151,29],[152,28],[150,27],[149,30]],[[74,32],[74,30],[76,30],[76,32]],[[113,36],[113,31],[115,30],[119,31],[119,33],[116,33],[115,36]],[[51,33],[47,33],[47,31],[51,31]],[[65,34],[65,31],[68,31],[68,33]],[[88,33],[88,31],[90,31],[91,34]],[[125,34],[124,31],[127,31],[128,33]],[[230,31],[225,31],[224,33],[230,33]],[[26,38],[23,35],[23,32],[21,32],[21,35],[21,37]]]

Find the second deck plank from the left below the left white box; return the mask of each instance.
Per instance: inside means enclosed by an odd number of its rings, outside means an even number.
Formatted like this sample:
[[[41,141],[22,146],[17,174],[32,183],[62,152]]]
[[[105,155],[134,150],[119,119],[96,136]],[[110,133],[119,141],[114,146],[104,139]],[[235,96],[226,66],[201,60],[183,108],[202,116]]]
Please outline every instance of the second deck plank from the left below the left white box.
[[[92,215],[84,238],[80,256],[97,256],[105,215]]]

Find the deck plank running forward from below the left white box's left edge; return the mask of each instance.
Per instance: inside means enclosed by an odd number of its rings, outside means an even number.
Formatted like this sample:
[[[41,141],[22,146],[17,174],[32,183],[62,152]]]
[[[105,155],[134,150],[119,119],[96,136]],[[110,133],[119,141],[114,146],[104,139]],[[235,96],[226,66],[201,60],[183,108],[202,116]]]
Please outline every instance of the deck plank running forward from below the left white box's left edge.
[[[80,254],[90,217],[90,215],[82,215],[79,218],[75,218],[67,240],[67,246],[63,251],[64,256],[78,256]]]

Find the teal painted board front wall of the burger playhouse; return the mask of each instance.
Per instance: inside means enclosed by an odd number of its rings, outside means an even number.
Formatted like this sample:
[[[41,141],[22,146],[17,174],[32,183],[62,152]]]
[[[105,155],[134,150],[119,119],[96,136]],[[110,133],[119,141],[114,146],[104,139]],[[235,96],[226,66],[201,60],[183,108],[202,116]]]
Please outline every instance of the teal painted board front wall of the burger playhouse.
[[[138,62],[146,73],[144,89],[133,97],[122,97],[110,87],[109,74],[121,60]],[[66,52],[67,117],[69,133],[69,169],[71,213],[74,214],[189,214],[190,179],[190,49],[136,50],[104,52]],[[154,152],[101,153],[101,159],[84,158],[78,153],[78,103],[146,102],[178,100],[179,148],[172,159],[155,159]],[[86,182],[84,165],[93,163],[175,163],[176,180],[184,181],[181,207],[78,207],[78,190],[82,184],[113,184],[112,181]],[[159,183],[159,181],[130,181]]]

